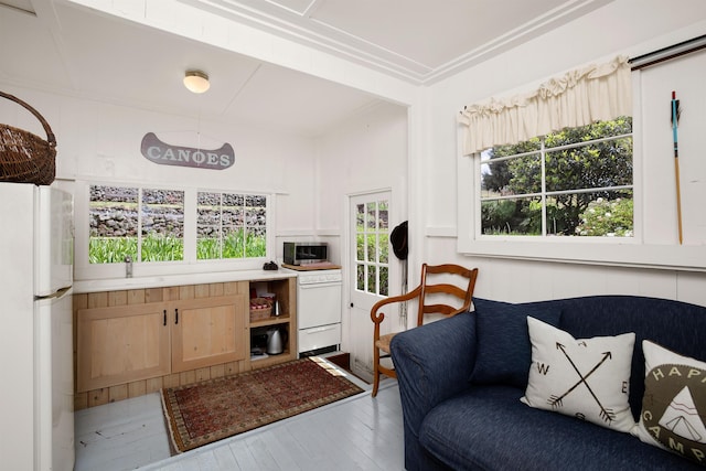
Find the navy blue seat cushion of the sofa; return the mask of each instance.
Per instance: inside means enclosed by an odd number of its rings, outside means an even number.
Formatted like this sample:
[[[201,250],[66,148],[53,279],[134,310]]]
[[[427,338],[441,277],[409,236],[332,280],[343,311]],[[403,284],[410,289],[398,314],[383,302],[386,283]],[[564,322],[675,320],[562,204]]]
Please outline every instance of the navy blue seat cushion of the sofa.
[[[474,386],[434,408],[421,445],[454,470],[696,470],[620,433],[520,402],[522,388]]]

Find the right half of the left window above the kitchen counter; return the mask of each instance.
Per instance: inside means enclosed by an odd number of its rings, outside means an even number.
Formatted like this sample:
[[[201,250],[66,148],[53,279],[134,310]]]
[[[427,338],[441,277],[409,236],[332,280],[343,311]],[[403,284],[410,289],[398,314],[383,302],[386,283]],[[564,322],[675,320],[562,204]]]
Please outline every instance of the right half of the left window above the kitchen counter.
[[[142,190],[141,261],[184,259],[184,192]]]

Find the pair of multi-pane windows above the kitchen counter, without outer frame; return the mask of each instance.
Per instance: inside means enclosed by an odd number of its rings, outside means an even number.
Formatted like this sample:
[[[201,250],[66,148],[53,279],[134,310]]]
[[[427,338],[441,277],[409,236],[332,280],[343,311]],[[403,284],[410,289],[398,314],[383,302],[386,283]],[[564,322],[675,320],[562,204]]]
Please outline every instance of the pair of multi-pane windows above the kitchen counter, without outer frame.
[[[94,184],[88,206],[90,265],[267,256],[266,195]]]

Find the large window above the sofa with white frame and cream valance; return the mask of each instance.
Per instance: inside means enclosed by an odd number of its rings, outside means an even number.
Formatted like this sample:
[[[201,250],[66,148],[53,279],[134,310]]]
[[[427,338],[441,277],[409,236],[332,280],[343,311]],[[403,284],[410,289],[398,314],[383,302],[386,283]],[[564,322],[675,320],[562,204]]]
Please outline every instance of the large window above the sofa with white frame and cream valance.
[[[665,51],[660,50],[657,53],[663,54]],[[591,67],[581,67],[547,81],[536,89],[532,88],[511,97],[490,98],[488,101],[463,107],[457,115],[460,125],[460,156],[457,160],[458,251],[469,256],[507,259],[703,272],[706,267],[706,251],[703,249],[706,225],[700,217],[703,211],[699,204],[704,201],[704,188],[702,185],[696,191],[696,185],[689,184],[688,191],[694,193],[691,193],[688,199],[682,197],[681,204],[684,206],[680,211],[681,190],[676,179],[678,170],[682,172],[681,184],[684,186],[685,175],[688,175],[691,183],[696,182],[703,173],[703,168],[698,167],[698,159],[684,158],[687,154],[698,156],[699,141],[696,138],[691,142],[681,139],[677,165],[672,147],[674,128],[666,109],[670,105],[671,111],[675,88],[671,77],[684,79],[677,90],[677,97],[688,90],[689,100],[703,99],[704,87],[694,77],[703,69],[706,55],[700,50],[699,53],[688,55],[670,51],[666,56],[678,60],[655,63],[652,61],[652,54],[649,54],[644,60],[634,60],[635,67],[632,72],[630,64],[623,63],[622,60],[611,61],[601,67],[592,68],[593,72],[589,74],[585,72]],[[642,63],[639,67],[638,62]],[[593,78],[602,83],[591,84]],[[576,94],[573,90],[581,93]],[[601,107],[605,111],[601,111]],[[559,157],[568,157],[568,149],[571,148],[569,146],[565,151],[559,146],[547,142],[557,129],[628,119],[620,118],[624,116],[632,116],[634,128],[630,132],[616,129],[616,132],[607,135],[609,139],[606,139],[605,144],[600,140],[596,142],[599,147],[624,147],[631,151],[634,149],[632,159],[623,162],[625,172],[613,172],[611,181],[597,180],[590,185],[561,186],[552,185],[548,179],[539,180],[538,184],[532,180],[526,182],[526,185],[533,190],[521,192],[509,184],[496,184],[489,180],[486,188],[479,189],[485,179],[481,173],[488,172],[488,168],[484,168],[485,161],[491,160],[491,156],[481,157],[486,149],[493,148],[495,163],[505,157],[510,162],[512,154],[517,159],[527,158],[524,162],[525,168],[530,168],[526,163],[530,161],[539,165],[539,173],[546,172],[547,163],[552,169],[548,159],[553,157],[553,151],[559,152]],[[530,147],[523,152],[509,151],[501,157],[500,144],[517,146],[518,142],[532,141],[535,136],[546,138],[535,142],[538,147]],[[528,159],[528,156],[537,153],[541,156],[537,160]],[[687,161],[693,167],[687,169]],[[599,164],[600,169],[600,161],[593,163]],[[612,162],[607,160],[606,163]],[[557,159],[555,164],[559,165],[560,161]],[[545,165],[545,169],[542,169],[542,165]],[[503,169],[498,167],[495,173],[500,174],[502,171]],[[536,172],[531,173],[531,176],[534,179],[535,174]],[[537,192],[537,186],[538,194],[533,193]],[[587,199],[589,206],[578,212],[579,216],[576,218],[568,220],[569,223],[565,227],[561,227],[560,217],[557,217],[555,229],[552,212],[561,207],[558,204],[553,206],[552,203],[553,197],[561,195],[563,191],[576,195],[593,194]],[[481,195],[485,199],[483,203]],[[545,199],[544,207],[542,197]],[[483,204],[500,205],[500,202],[513,199],[524,200],[517,204],[521,211],[525,211],[525,217],[520,221],[504,214],[495,222],[490,222],[488,214],[479,214],[483,211]],[[505,210],[514,212],[515,207]],[[530,213],[531,211],[536,211],[539,216]],[[546,214],[542,214],[543,211]],[[527,213],[535,217],[526,216]],[[609,216],[605,217],[607,213]],[[632,234],[629,226],[630,213]],[[612,220],[617,214],[625,221],[614,227],[606,227],[606,221]],[[481,227],[481,221],[484,227]],[[525,226],[532,224],[535,225],[534,233],[525,229]],[[506,228],[504,233],[513,235],[492,235],[501,234],[500,227],[507,225],[510,229]],[[544,227],[537,233],[536,226],[539,225]],[[527,233],[535,235],[520,235]],[[545,234],[546,236],[543,236]],[[565,235],[550,236],[553,234]]]

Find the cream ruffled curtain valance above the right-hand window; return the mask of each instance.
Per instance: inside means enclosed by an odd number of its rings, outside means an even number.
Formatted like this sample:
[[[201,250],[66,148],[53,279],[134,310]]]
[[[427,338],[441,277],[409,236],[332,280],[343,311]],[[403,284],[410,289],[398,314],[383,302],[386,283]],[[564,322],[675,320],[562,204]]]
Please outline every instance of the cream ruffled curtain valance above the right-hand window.
[[[567,127],[630,116],[631,85],[628,57],[618,56],[552,78],[534,92],[468,105],[458,116],[463,154],[526,141]]]

